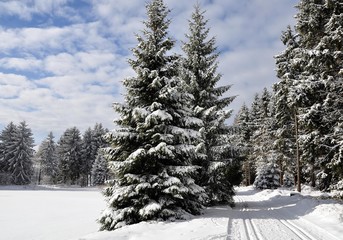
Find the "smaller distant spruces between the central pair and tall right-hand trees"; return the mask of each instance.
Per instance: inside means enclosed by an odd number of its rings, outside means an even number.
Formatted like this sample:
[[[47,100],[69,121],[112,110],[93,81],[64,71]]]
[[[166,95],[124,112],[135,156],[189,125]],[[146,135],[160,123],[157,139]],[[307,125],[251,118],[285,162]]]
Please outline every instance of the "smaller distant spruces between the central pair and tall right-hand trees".
[[[240,152],[245,185],[254,184],[260,189],[294,185],[294,152],[286,156],[281,151],[294,144],[280,136],[283,126],[277,125],[275,114],[274,93],[265,88],[235,117],[234,142]]]

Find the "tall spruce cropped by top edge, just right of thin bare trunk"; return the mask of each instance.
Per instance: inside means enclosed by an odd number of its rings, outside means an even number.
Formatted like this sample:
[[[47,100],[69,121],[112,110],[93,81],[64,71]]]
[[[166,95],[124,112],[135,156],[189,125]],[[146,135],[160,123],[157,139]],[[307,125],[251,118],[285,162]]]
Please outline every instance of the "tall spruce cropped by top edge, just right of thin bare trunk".
[[[305,96],[299,108],[299,143],[301,159],[305,163],[304,177],[312,186],[316,185],[316,175],[320,171],[320,162],[325,156],[325,146],[329,140],[329,127],[325,123],[323,108],[326,95],[326,80],[322,75],[324,54],[322,50],[317,49],[317,44],[324,36],[323,29],[327,18],[327,12],[323,11],[325,2],[300,1],[297,5],[295,26],[302,60],[296,87]]]

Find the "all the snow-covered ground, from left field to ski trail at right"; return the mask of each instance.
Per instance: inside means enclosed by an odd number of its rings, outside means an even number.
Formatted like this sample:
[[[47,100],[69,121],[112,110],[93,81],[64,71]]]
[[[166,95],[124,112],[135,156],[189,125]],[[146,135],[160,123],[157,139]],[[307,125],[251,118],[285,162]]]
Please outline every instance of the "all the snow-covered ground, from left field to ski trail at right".
[[[98,189],[0,187],[0,239],[6,240],[209,240],[343,239],[343,204],[304,188],[237,189],[237,205],[209,208],[176,222],[142,222],[97,232],[105,207]]]

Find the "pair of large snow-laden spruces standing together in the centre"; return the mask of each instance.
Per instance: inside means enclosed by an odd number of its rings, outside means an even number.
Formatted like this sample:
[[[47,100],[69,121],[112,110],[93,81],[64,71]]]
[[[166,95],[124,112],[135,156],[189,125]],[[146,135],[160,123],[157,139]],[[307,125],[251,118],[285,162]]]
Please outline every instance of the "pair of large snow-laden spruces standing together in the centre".
[[[217,87],[218,53],[204,12],[195,7],[179,56],[168,35],[169,9],[162,0],[146,9],[145,29],[129,60],[136,76],[123,81],[125,103],[114,104],[119,128],[107,135],[114,178],[105,190],[102,230],[232,203],[239,172],[225,124],[234,97],[222,97],[230,85]]]

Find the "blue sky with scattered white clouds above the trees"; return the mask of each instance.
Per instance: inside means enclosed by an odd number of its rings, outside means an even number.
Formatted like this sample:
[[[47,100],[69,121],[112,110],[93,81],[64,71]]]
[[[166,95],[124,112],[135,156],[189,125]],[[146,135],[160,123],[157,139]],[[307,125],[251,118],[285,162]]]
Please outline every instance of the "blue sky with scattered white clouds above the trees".
[[[220,51],[220,85],[250,104],[276,82],[273,56],[281,31],[294,25],[296,0],[198,0]],[[122,102],[121,81],[145,19],[145,0],[3,0],[0,2],[0,130],[25,120],[39,144],[49,131],[115,127],[111,105]],[[165,0],[170,35],[185,40],[196,0]],[[232,117],[233,118],[233,117]]]

